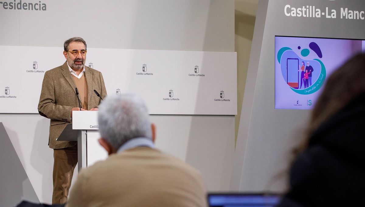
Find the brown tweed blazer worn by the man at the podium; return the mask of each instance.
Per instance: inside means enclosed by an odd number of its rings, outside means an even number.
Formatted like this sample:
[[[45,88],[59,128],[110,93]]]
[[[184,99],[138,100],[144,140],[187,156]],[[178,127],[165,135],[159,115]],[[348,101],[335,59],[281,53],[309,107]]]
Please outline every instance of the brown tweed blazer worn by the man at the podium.
[[[85,66],[84,75],[88,85],[88,109],[99,105],[101,99],[96,96],[94,89],[104,99],[107,95],[104,79],[97,70]],[[71,110],[78,107],[76,84],[65,62],[45,72],[39,97],[38,112],[51,119],[49,127],[49,147],[61,149],[76,145],[77,142],[56,141],[66,125],[72,123]]]

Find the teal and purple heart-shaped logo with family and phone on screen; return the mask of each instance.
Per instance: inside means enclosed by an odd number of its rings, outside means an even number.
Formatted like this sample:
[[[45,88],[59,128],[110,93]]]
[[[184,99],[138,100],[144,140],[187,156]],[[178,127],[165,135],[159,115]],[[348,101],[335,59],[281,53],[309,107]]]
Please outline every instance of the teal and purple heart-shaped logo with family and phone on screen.
[[[318,58],[306,59],[310,54]],[[303,95],[318,91],[326,78],[326,67],[320,60],[322,57],[322,50],[315,42],[309,43],[308,48],[299,45],[295,50],[290,47],[279,49],[277,61],[288,87]]]

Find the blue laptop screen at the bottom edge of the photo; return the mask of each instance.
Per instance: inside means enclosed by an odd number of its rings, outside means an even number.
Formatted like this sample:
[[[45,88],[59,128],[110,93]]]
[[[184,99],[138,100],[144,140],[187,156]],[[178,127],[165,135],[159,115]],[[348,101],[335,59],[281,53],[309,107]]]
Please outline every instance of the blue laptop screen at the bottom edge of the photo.
[[[271,207],[276,206],[280,196],[275,194],[209,193],[210,207]]]

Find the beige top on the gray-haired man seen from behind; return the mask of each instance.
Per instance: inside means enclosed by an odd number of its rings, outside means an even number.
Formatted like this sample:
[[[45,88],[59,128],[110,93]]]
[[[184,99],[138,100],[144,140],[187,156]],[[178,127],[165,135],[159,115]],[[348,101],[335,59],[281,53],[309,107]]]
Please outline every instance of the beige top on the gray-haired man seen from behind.
[[[157,149],[135,147],[83,169],[66,207],[206,207],[200,173]]]

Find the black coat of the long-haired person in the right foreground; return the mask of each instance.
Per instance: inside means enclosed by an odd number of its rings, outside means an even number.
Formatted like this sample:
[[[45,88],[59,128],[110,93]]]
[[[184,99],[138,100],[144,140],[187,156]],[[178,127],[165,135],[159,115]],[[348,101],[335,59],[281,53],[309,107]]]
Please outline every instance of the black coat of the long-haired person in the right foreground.
[[[364,199],[365,93],[313,133],[278,206],[365,206]]]

